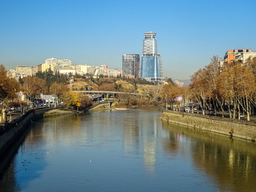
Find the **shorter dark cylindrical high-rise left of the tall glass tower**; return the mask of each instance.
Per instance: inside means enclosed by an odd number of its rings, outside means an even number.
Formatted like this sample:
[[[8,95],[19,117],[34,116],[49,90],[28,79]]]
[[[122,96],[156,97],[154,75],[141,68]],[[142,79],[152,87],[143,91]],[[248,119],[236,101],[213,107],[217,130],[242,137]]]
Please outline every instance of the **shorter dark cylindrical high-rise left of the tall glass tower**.
[[[123,76],[134,76],[134,78],[140,77],[140,55],[123,55]]]

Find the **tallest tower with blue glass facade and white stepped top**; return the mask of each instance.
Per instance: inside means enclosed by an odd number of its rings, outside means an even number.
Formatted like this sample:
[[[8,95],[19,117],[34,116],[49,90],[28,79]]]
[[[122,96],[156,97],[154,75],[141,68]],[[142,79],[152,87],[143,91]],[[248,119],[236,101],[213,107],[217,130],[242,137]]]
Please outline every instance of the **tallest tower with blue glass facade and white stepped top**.
[[[162,58],[157,52],[155,32],[144,33],[141,57],[141,78],[154,83],[163,83]]]

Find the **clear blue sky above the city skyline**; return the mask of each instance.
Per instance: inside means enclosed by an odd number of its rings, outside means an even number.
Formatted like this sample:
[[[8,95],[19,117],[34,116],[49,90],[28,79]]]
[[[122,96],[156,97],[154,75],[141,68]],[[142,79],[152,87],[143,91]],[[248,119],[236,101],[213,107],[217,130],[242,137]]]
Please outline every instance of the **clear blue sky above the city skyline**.
[[[6,69],[45,59],[122,70],[122,55],[142,55],[156,32],[164,76],[189,79],[213,55],[256,49],[256,1],[0,0],[0,63]]]

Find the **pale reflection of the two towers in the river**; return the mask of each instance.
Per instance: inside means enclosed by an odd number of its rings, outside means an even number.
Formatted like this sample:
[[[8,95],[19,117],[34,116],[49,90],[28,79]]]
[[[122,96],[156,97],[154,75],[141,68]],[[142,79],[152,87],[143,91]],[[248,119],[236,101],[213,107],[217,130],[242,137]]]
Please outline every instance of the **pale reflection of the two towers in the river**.
[[[139,114],[138,114],[139,115]],[[146,119],[146,120],[145,120]],[[142,116],[131,120],[129,116],[124,117],[121,124],[123,130],[123,148],[127,158],[140,158],[141,151],[144,167],[148,172],[155,172],[157,153],[157,118]],[[161,127],[159,127],[159,130]]]

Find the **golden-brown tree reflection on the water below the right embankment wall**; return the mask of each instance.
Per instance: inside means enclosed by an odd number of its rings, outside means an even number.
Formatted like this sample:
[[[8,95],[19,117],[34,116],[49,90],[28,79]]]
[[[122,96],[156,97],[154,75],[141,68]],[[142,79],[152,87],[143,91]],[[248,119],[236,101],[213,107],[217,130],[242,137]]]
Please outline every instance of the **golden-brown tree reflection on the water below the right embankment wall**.
[[[190,140],[194,166],[213,179],[220,190],[254,191],[256,187],[256,148],[251,142],[227,136],[194,130],[176,124],[162,122],[170,131],[170,142],[165,151],[175,153],[181,149],[180,136]]]

